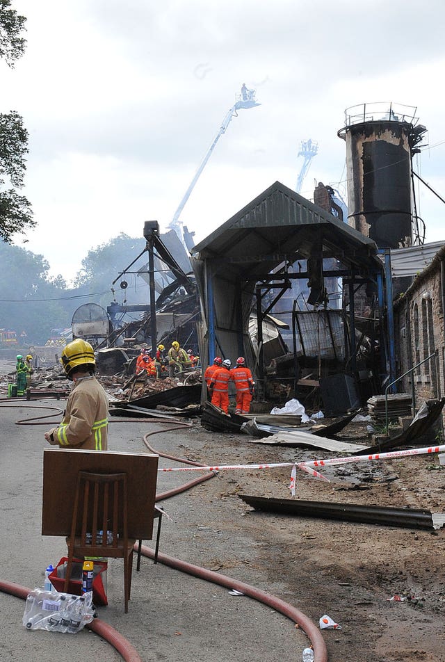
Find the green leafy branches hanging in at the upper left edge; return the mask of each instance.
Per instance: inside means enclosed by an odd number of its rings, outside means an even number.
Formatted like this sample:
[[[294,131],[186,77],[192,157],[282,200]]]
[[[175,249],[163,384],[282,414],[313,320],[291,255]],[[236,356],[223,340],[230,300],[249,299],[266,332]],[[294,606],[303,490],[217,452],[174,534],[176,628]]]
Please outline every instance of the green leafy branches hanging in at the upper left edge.
[[[26,40],[22,31],[26,18],[10,8],[10,0],[0,0],[0,58],[13,67],[23,55]],[[12,241],[13,234],[24,234],[35,226],[31,204],[19,195],[26,170],[25,154],[28,153],[28,131],[22,117],[16,111],[0,113],[0,239]],[[4,188],[8,183],[10,188]]]

